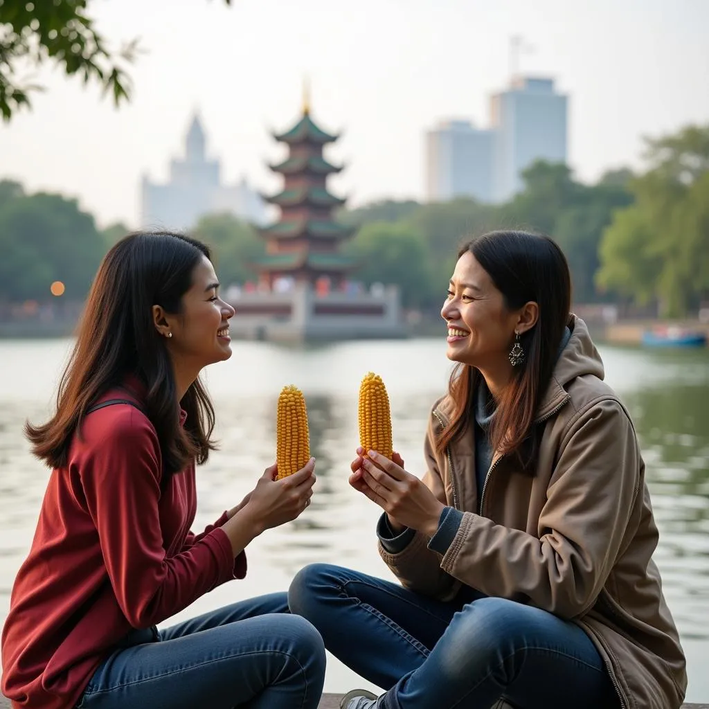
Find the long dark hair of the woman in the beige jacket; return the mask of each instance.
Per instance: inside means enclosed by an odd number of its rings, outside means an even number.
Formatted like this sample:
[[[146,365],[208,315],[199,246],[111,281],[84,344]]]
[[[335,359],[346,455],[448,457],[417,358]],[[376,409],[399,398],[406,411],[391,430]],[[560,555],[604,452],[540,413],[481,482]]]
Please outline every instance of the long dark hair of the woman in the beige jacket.
[[[520,335],[525,363],[515,367],[513,379],[497,402],[489,439],[492,449],[502,454],[518,454],[523,467],[536,457],[536,439],[530,436],[535,413],[540,406],[554,364],[559,342],[569,321],[571,277],[564,253],[547,236],[523,231],[493,231],[467,242],[458,258],[471,252],[501,291],[508,310],[528,301],[539,306],[534,327]],[[451,423],[437,438],[436,448],[447,445],[468,430],[474,415],[472,393],[480,374],[467,364],[457,364],[449,383],[454,403]],[[529,446],[525,446],[529,442]]]

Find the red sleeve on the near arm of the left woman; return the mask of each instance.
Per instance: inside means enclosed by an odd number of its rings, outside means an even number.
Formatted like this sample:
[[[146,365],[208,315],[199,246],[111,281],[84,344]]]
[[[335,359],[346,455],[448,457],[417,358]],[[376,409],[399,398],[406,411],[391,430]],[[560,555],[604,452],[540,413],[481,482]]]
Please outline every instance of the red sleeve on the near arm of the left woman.
[[[235,562],[219,527],[167,558],[155,430],[133,408],[121,408],[108,420],[110,428],[100,431],[97,420],[82,444],[82,485],[118,605],[133,627],[148,627],[233,579]]]

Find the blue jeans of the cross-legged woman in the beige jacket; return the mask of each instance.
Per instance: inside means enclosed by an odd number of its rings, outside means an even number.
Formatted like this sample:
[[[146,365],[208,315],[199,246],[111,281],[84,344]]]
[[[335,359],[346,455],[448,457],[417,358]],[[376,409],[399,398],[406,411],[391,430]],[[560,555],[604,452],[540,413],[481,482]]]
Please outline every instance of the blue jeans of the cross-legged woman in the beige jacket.
[[[464,588],[450,603],[328,564],[298,572],[291,613],[384,688],[380,709],[614,709],[620,700],[584,630],[545,610]]]

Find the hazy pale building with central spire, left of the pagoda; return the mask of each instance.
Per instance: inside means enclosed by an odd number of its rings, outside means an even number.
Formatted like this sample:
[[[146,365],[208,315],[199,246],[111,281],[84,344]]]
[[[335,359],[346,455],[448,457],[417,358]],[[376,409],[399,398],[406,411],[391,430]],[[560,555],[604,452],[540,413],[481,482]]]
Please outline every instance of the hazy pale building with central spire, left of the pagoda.
[[[197,116],[187,132],[184,160],[170,162],[169,182],[156,184],[143,177],[141,205],[144,228],[189,230],[201,216],[220,212],[259,225],[267,221],[264,202],[246,179],[234,185],[221,183],[220,163],[207,160],[206,138]]]

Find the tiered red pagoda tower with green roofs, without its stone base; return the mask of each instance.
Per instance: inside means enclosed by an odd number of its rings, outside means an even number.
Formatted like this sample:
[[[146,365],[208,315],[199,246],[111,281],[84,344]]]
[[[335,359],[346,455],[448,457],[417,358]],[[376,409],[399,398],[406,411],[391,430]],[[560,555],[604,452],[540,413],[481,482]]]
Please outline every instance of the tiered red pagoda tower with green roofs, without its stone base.
[[[264,199],[281,210],[279,220],[259,229],[266,240],[266,255],[259,259],[259,283],[273,289],[274,281],[291,277],[298,284],[315,285],[326,277],[333,289],[340,289],[352,259],[341,255],[340,244],[356,228],[337,223],[333,210],[345,199],[330,194],[325,184],[328,175],[342,166],[330,164],[323,157],[323,147],[335,143],[339,135],[330,135],[311,118],[306,91],[303,115],[285,133],[274,133],[279,143],[289,147],[289,155],[279,164],[269,164],[284,177],[283,189]]]

